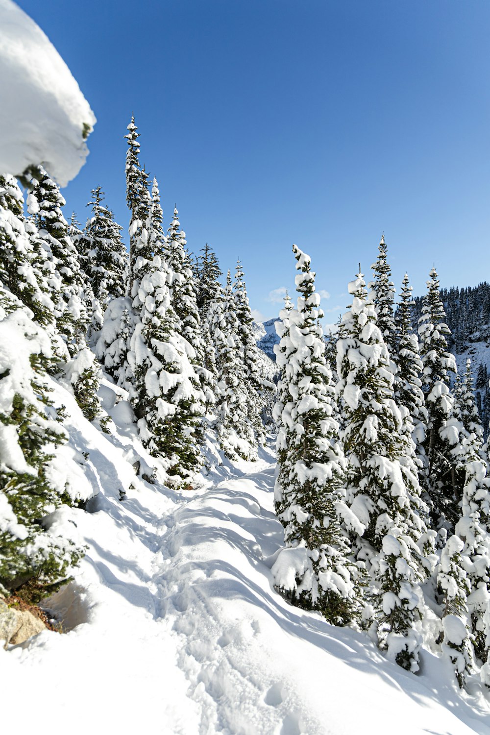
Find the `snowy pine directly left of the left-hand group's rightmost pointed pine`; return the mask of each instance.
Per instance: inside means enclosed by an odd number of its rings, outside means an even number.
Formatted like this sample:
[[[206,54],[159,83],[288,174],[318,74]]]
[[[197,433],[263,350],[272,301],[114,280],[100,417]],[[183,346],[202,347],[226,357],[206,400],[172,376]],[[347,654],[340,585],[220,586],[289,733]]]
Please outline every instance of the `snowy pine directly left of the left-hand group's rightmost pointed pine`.
[[[228,270],[226,290],[221,287],[217,290],[206,318],[216,356],[215,430],[228,458],[239,456],[254,460],[257,458],[257,444],[248,417],[245,365],[239,359],[239,324],[234,308]]]

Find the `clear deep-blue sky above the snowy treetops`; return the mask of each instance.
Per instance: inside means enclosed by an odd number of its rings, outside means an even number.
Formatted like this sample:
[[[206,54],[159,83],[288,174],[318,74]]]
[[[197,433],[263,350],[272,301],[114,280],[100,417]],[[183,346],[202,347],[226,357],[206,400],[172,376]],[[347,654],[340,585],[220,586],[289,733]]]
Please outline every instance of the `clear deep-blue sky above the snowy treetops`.
[[[64,191],[84,221],[101,184],[125,228],[123,135],[194,252],[242,259],[264,317],[311,255],[325,322],[384,231],[397,289],[489,272],[488,0],[18,0],[98,123]],[[338,307],[342,307],[339,309]]]

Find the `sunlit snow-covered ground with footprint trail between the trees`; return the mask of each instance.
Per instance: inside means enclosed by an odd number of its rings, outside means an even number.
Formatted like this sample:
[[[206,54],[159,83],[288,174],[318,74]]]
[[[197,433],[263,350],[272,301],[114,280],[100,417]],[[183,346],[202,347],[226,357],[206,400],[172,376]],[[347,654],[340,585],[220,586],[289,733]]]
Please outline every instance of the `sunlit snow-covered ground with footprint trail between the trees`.
[[[134,462],[143,472],[149,458],[129,404],[115,404],[118,389],[102,388],[112,437],[56,390],[71,416],[71,445],[90,452],[84,468],[99,494],[87,512],[57,513],[88,546],[74,581],[51,600],[67,632],[0,649],[2,728],[490,734],[490,697],[461,693],[445,661],[424,651],[422,673],[411,675],[366,634],[276,594],[270,567],[282,528],[270,449],[176,493],[135,475]]]

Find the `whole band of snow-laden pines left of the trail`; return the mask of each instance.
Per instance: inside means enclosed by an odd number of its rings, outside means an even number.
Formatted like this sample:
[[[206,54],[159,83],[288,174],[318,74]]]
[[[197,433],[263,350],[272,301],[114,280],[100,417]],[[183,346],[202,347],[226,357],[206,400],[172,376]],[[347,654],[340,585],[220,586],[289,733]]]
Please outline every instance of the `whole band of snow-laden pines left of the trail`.
[[[143,446],[176,489],[192,487],[206,437],[230,459],[253,460],[272,420],[262,409],[275,386],[262,376],[241,263],[222,286],[212,248],[187,250],[177,209],[165,232],[134,118],[125,137],[129,252],[101,186],[82,228],[65,219],[42,167],[25,203],[17,180],[0,175],[0,594],[40,598],[83,553],[49,521],[93,492],[80,462],[60,462],[68,436],[53,381],[110,433],[98,398],[104,370],[126,390]]]

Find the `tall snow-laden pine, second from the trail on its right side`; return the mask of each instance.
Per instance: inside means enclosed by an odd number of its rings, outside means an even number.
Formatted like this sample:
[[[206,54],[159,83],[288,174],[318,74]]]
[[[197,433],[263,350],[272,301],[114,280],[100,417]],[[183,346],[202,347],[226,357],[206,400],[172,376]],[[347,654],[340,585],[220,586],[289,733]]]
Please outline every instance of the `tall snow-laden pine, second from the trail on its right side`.
[[[415,626],[422,615],[417,581],[427,573],[417,546],[425,539],[417,467],[394,401],[389,354],[360,273],[349,293],[353,301],[337,342],[336,390],[344,412],[347,501],[364,529],[354,545],[375,581],[381,648],[415,671],[420,642]]]

